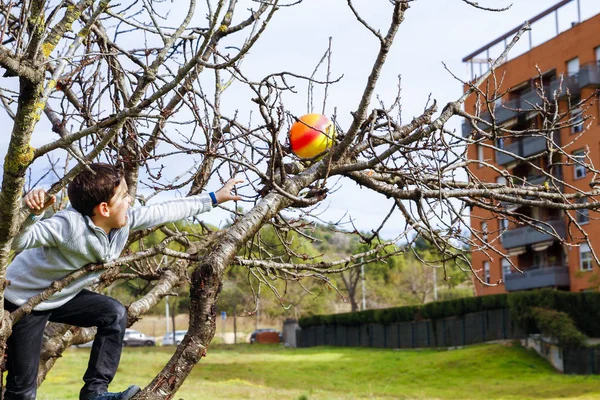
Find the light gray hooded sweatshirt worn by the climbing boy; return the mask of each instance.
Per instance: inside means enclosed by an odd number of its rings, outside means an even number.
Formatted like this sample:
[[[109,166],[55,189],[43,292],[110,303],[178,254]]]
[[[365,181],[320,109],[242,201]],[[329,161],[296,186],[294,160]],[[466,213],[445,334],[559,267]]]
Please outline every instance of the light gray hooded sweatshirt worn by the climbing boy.
[[[23,250],[9,265],[6,279],[10,282],[5,298],[18,306],[38,295],[50,284],[90,263],[102,263],[119,257],[129,232],[175,222],[212,209],[208,194],[166,201],[145,207],[130,208],[127,224],[113,229],[109,235],[92,219],[73,208],[59,211],[40,220],[31,216],[23,224],[13,242],[14,250]],[[97,281],[103,271],[84,275],[53,294],[34,310],[51,310],[71,300],[83,288]]]

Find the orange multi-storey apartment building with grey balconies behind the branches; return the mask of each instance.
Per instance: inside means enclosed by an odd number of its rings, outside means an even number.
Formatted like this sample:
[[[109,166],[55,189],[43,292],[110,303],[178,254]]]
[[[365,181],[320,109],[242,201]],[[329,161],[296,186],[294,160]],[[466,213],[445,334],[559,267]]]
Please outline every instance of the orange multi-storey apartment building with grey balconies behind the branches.
[[[497,71],[496,76],[502,77],[502,91],[507,93],[495,103],[496,123],[511,130],[540,127],[539,113],[532,111],[532,105],[541,104],[542,99],[536,85],[543,85],[545,93],[549,96],[560,90],[560,109],[567,109],[567,101],[577,102],[579,99],[592,97],[593,105],[585,110],[585,115],[593,119],[590,126],[576,144],[570,145],[568,151],[573,155],[582,154],[589,149],[589,155],[596,167],[600,165],[600,118],[598,89],[600,88],[600,14],[586,20],[575,20],[568,29],[559,32],[558,21],[562,7],[573,6],[571,0],[559,2],[554,7],[544,10],[534,16],[530,21],[532,25],[542,18],[556,20],[556,34],[549,40],[531,46],[525,53],[520,54],[505,62]],[[579,0],[577,0],[579,7]],[[485,59],[491,46],[510,40],[515,31],[497,38],[487,46],[465,57],[463,61],[471,66],[472,77],[480,65],[479,59]],[[523,39],[527,41],[527,33]],[[541,73],[541,78],[540,78]],[[562,80],[561,80],[562,76]],[[569,96],[570,95],[570,96]],[[465,110],[473,113],[476,107],[476,98],[471,98],[465,104]],[[573,110],[572,117],[580,120],[581,110]],[[491,121],[489,113],[483,112],[482,118]],[[587,125],[587,124],[586,124]],[[584,129],[583,124],[564,128],[554,132],[554,140],[562,145],[570,143]],[[463,135],[471,134],[467,122],[463,124]],[[538,167],[544,168],[548,162],[546,140],[543,137],[504,138],[495,143],[506,152],[522,157],[533,157],[533,162]],[[509,154],[495,151],[481,145],[470,145],[468,148],[470,159],[483,160],[495,165],[499,170],[507,170],[524,185],[539,185],[546,180],[540,176],[535,168],[519,162]],[[536,157],[537,156],[537,157]],[[554,163],[553,163],[554,164]],[[487,182],[502,182],[503,178],[493,168],[485,165],[474,164],[470,171],[480,180]],[[586,176],[586,170],[572,165],[555,166],[552,174],[565,182],[565,193],[573,192],[574,188],[589,189],[591,177]],[[514,205],[513,205],[514,206]],[[509,206],[510,207],[510,206]],[[545,221],[552,225],[556,232],[562,236],[569,234],[568,220],[565,212],[551,209],[532,207],[519,207],[515,211]],[[595,220],[600,213],[577,212],[572,214],[577,221],[585,226],[585,230],[592,238],[593,248],[600,249],[600,220]],[[477,295],[531,290],[537,288],[557,288],[572,292],[584,290],[599,290],[600,268],[595,265],[590,249],[587,245],[572,247],[561,244],[548,234],[543,234],[532,227],[513,225],[512,223],[495,218],[489,211],[474,208],[471,211],[471,224],[475,229],[489,232],[483,235],[483,240],[489,240],[494,246],[508,254],[510,261],[523,273],[511,267],[508,259],[494,255],[492,257],[483,252],[475,251],[472,262],[478,270],[479,277],[488,283],[501,282],[497,286],[486,286],[475,282]],[[490,259],[491,258],[491,259]]]

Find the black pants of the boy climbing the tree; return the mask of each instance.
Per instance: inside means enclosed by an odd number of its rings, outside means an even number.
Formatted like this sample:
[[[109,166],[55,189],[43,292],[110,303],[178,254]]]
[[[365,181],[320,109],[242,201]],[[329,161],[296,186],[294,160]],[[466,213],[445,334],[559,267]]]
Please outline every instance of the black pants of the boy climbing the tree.
[[[17,306],[5,300],[4,308],[14,311]],[[98,327],[79,398],[87,399],[106,392],[121,359],[127,310],[111,297],[82,290],[61,307],[33,311],[13,326],[8,339],[8,375],[4,398],[35,399],[42,339],[48,321],[86,328]]]

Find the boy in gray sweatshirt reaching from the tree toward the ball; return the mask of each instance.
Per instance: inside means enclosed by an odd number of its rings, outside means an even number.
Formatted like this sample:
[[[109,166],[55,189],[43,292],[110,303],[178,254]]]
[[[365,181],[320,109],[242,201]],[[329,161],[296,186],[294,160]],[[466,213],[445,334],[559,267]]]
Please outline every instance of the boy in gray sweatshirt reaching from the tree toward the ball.
[[[13,240],[13,249],[23,251],[7,270],[10,285],[4,292],[5,309],[14,311],[53,281],[86,264],[118,258],[131,231],[175,222],[209,211],[219,203],[241,199],[231,194],[240,182],[243,180],[231,179],[214,193],[130,209],[132,199],[122,172],[109,164],[95,163],[69,185],[71,208],[39,222],[55,198],[44,205],[44,190],[33,190],[25,196],[33,213]],[[117,300],[85,289],[101,274],[93,272],[76,280],[13,326],[7,348],[5,399],[35,399],[47,321],[98,328],[80,400],[127,400],[139,392],[135,385],[124,392],[107,392],[121,357],[127,310]]]

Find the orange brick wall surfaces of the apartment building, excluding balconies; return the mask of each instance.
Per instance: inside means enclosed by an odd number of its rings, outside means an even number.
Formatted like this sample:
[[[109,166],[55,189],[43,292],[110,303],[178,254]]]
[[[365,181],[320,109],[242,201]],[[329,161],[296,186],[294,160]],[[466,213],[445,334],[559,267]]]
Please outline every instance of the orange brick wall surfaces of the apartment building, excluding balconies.
[[[555,69],[556,76],[560,76],[562,73],[566,75],[567,62],[575,57],[579,58],[580,67],[588,63],[596,63],[595,48],[600,46],[599,32],[600,14],[575,25],[553,39],[531,49],[529,52],[522,54],[513,60],[509,60],[498,68],[496,72],[498,80],[500,80],[500,77],[503,79],[500,91],[518,87],[520,84],[529,81],[531,78],[537,77],[538,69],[542,74]],[[535,34],[535,32],[533,32],[533,34]],[[528,33],[525,33],[521,40],[528,40],[527,35]],[[482,90],[485,90],[485,84],[482,86]],[[586,123],[587,132],[578,138],[576,144],[570,145],[566,150],[573,152],[578,149],[587,148],[594,166],[600,168],[600,102],[598,101],[595,88],[583,88],[580,97],[582,99],[587,97],[592,98],[592,104],[585,110],[585,115],[590,116],[592,119],[588,120]],[[471,96],[465,103],[465,109],[468,112],[474,112],[475,107],[476,96]],[[566,107],[566,101],[561,102],[561,108],[564,109],[564,107]],[[571,133],[570,129],[562,129],[560,132],[560,140],[563,145],[572,142],[577,137],[578,134]],[[476,146],[469,147],[468,156],[471,160],[478,159]],[[483,156],[486,162],[495,164],[496,157],[493,149],[484,148]],[[482,181],[495,182],[499,176],[493,169],[480,167],[476,163],[472,164],[469,169]],[[572,166],[563,166],[562,172],[564,180],[567,183],[567,187],[565,188],[566,193],[573,192],[573,189],[568,188],[569,185],[573,185],[575,188],[589,190],[589,183],[592,179],[589,173],[584,178],[575,179],[574,168]],[[600,177],[597,179],[600,179]],[[500,247],[498,241],[498,231],[500,229],[499,220],[497,218],[490,219],[490,217],[491,213],[489,211],[475,208],[471,212],[471,224],[475,228],[480,228],[481,222],[486,221],[489,231],[488,242],[496,243],[496,245]],[[593,218],[598,217],[600,217],[599,213],[590,211],[591,221],[586,225],[585,230],[590,238],[592,238],[593,247],[600,252],[600,221],[593,220]],[[567,230],[569,230],[569,225],[567,225]],[[569,266],[570,290],[574,292],[590,289],[598,290],[600,288],[599,267],[595,265],[592,271],[581,271],[579,267],[579,249],[565,246],[564,251]],[[487,253],[488,254],[484,254],[481,251],[473,252],[473,267],[477,271],[478,276],[481,279],[484,279],[483,263],[486,261],[489,262],[490,283],[497,283],[502,279],[501,257],[498,254],[494,254],[493,251],[488,251]],[[518,265],[518,258],[519,257],[512,257],[511,260]],[[503,283],[500,283],[498,286],[489,287],[477,282],[476,279],[475,288],[478,295],[505,292]]]

